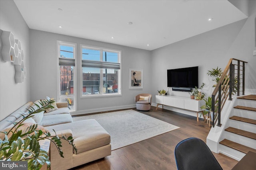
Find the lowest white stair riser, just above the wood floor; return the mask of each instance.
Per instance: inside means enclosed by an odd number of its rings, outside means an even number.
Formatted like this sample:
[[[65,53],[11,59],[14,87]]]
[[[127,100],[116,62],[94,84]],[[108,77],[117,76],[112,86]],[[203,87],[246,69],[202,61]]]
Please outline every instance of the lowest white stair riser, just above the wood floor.
[[[235,160],[241,160],[246,154],[238,150],[226,147],[225,145],[219,145],[220,153],[227,155]]]

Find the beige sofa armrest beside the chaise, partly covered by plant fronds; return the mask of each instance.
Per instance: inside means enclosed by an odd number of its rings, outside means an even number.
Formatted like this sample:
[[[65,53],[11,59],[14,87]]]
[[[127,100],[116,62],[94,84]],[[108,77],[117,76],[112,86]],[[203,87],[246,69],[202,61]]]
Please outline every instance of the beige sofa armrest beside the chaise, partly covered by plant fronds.
[[[64,135],[68,138],[69,136],[72,136],[72,131],[70,129],[56,131],[56,134],[59,137],[62,137],[62,135]],[[64,139],[61,139],[61,142],[61,150],[63,152],[64,158],[60,156],[56,145],[54,145],[53,142],[51,142],[50,144],[50,161],[52,170],[64,170],[73,167],[73,147],[68,143],[68,141]]]

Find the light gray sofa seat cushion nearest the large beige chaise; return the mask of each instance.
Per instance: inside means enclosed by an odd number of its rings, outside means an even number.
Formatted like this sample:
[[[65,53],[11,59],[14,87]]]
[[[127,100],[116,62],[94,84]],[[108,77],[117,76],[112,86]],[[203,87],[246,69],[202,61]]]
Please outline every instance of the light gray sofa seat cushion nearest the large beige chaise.
[[[46,127],[62,123],[70,123],[72,121],[73,119],[70,114],[45,115],[39,125]]]

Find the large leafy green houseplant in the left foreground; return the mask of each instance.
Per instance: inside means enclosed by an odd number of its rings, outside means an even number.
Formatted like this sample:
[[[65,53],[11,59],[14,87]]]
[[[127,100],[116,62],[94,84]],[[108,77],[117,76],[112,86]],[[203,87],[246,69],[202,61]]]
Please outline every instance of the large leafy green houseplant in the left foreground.
[[[33,124],[29,127],[23,127],[24,121],[33,117],[36,113],[40,113],[45,109],[53,108],[52,103],[54,100],[46,98],[41,100],[39,104],[34,103],[37,109],[29,107],[27,113],[22,112],[22,119],[17,122],[11,122],[14,126],[6,131],[1,131],[4,137],[0,139],[0,160],[1,161],[28,161],[28,170],[39,170],[42,165],[47,164],[47,168],[50,168],[50,160],[46,150],[40,148],[40,140],[52,141],[58,149],[61,157],[63,152],[61,150],[62,142],[60,139],[64,139],[72,145],[73,149],[76,147],[73,144],[72,137],[58,137],[52,135],[50,132],[42,129],[38,129],[39,125]]]

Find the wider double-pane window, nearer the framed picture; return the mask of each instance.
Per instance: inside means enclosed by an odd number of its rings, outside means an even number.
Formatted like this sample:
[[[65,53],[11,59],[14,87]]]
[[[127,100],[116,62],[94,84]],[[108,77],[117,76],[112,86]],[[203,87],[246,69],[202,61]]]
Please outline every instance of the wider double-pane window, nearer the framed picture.
[[[81,45],[82,96],[120,94],[120,51]]]

